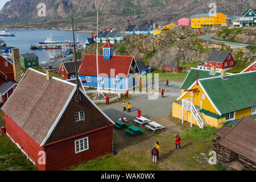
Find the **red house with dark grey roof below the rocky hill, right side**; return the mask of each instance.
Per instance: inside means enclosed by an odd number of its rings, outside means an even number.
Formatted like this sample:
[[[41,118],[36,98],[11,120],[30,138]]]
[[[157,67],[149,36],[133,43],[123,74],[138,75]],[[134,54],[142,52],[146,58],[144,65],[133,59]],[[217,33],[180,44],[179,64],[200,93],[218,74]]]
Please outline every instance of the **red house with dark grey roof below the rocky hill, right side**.
[[[200,63],[197,68],[210,70],[213,66],[216,71],[229,70],[234,68],[234,57],[229,51],[216,51],[212,50],[205,63]]]

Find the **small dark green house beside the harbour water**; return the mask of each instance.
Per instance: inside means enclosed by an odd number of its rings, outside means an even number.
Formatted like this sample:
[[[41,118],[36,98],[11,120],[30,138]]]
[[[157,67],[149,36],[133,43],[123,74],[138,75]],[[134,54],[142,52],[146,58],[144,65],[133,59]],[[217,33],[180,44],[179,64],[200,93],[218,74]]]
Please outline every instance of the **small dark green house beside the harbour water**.
[[[35,53],[24,53],[19,55],[20,67],[39,67],[38,55]]]

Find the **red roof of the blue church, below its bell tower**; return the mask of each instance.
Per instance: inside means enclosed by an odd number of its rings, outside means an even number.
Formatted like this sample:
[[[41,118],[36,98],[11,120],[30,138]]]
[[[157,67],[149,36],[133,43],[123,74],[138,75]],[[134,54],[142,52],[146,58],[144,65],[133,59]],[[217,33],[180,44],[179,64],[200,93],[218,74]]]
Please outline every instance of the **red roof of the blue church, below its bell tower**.
[[[98,73],[106,74],[107,77],[127,78],[133,56],[112,56],[110,60],[104,60],[103,55],[98,55]],[[84,55],[79,69],[79,75],[97,76],[96,55]],[[110,69],[114,69],[110,74]],[[102,75],[104,76],[104,75]]]

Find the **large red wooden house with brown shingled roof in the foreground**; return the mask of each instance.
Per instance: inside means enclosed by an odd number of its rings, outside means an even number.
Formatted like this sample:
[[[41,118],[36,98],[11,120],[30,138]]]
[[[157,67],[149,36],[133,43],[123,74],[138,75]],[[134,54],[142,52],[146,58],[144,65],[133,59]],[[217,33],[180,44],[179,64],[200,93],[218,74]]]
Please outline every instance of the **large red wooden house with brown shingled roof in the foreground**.
[[[28,69],[2,107],[7,135],[40,170],[65,169],[112,152],[114,122],[83,88],[53,75],[54,70]]]

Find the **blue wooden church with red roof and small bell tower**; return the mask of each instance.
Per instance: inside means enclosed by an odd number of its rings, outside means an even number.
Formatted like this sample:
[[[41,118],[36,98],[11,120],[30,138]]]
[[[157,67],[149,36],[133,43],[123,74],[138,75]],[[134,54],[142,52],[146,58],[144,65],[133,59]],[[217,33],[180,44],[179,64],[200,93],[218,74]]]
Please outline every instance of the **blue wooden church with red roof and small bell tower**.
[[[139,69],[133,56],[113,55],[113,46],[106,42],[102,47],[103,55],[98,55],[100,88],[127,90],[139,83]],[[79,77],[84,86],[97,87],[96,55],[84,56]]]

